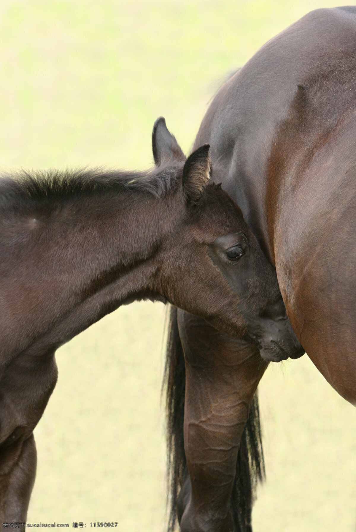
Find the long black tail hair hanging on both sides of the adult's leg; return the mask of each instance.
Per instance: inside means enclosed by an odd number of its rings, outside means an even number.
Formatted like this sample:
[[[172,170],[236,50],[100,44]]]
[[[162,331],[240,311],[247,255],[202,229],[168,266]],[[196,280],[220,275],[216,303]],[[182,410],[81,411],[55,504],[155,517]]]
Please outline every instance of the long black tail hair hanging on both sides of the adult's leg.
[[[183,440],[185,365],[176,307],[171,307],[169,315],[163,386],[166,388],[167,483],[168,497],[171,502],[168,532],[174,532],[177,517],[177,496],[187,463]],[[264,476],[265,463],[262,451],[258,397],[255,394],[249,418],[241,437],[236,462],[236,476],[231,495],[234,532],[252,532],[252,505],[255,501],[257,483],[259,480],[262,481]]]

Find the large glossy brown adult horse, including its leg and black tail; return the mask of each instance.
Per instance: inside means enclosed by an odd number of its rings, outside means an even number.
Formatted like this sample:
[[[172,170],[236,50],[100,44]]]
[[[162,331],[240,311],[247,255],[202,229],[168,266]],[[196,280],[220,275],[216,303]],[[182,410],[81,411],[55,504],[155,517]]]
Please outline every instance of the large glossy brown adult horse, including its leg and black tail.
[[[356,7],[313,11],[225,83],[194,144],[211,145],[214,177],[275,265],[296,336],[352,404],[355,87]],[[266,366],[255,346],[172,311],[166,369],[171,530],[176,515],[184,532],[251,530],[253,487],[263,475],[252,398]]]

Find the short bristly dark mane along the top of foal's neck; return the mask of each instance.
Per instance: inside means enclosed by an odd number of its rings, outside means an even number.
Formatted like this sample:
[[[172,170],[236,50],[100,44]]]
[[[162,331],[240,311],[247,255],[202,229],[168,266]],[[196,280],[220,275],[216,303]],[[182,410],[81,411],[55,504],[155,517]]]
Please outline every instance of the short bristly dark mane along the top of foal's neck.
[[[102,169],[26,171],[0,178],[0,210],[33,202],[65,202],[78,196],[117,193],[163,198],[176,190],[182,164],[162,164],[148,171]]]

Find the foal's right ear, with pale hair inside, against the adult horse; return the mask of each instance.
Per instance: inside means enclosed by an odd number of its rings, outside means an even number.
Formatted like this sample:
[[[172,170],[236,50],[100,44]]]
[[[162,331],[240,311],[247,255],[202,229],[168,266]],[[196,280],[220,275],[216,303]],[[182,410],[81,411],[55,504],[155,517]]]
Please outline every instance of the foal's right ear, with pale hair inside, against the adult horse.
[[[187,203],[196,203],[208,184],[211,171],[209,148],[209,144],[200,146],[184,164],[182,187]]]

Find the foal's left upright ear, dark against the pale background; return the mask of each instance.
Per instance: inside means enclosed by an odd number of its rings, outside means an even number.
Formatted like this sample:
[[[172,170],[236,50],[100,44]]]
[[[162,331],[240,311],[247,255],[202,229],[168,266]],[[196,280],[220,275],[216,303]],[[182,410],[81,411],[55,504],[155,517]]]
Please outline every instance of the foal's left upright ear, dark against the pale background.
[[[166,121],[163,117],[157,118],[152,130],[152,152],[157,166],[163,160],[172,161],[173,159],[185,161],[185,155],[175,137],[169,133]]]

